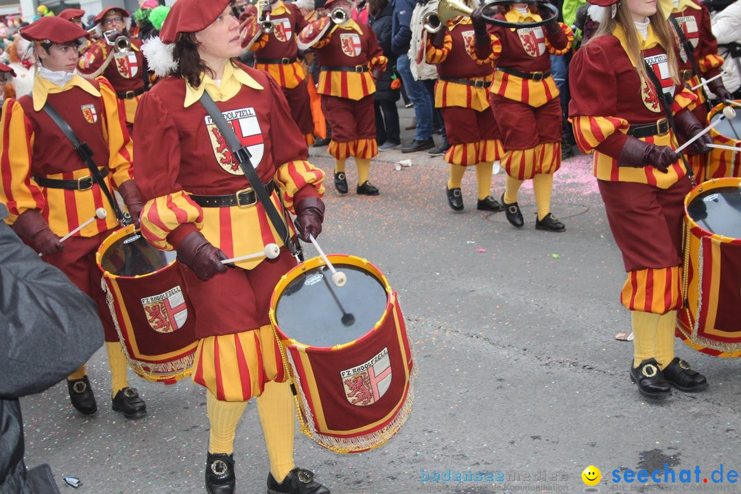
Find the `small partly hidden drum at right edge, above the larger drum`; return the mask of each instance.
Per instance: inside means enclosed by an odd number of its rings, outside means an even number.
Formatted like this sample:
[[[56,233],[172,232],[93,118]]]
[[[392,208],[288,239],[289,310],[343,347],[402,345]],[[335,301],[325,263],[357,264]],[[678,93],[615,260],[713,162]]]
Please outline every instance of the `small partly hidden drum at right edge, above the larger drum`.
[[[740,101],[741,102],[741,101]],[[717,104],[708,113],[708,125],[720,118],[725,104]],[[710,130],[710,136],[714,144],[722,146],[738,147],[738,151],[722,150],[713,148],[707,156],[707,169],[704,176],[698,176],[697,181],[710,180],[711,178],[741,177],[741,111],[736,112],[736,117],[724,120]]]

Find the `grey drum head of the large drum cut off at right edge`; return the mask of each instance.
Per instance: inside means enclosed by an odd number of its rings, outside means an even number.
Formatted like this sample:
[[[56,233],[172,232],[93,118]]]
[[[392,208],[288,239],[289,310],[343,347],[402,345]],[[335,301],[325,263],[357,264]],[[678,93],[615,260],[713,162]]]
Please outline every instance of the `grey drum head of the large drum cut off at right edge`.
[[[700,193],[688,205],[687,213],[703,230],[741,238],[740,187],[717,187]]]

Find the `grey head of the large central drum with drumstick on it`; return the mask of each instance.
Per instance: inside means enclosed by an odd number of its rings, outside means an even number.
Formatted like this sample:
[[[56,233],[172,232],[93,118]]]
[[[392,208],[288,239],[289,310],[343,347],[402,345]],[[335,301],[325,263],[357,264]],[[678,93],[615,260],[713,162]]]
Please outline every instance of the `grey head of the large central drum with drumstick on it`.
[[[342,287],[322,265],[290,281],[276,304],[282,333],[311,347],[333,347],[356,340],[373,329],[388,304],[378,278],[361,267],[334,264],[348,277]]]

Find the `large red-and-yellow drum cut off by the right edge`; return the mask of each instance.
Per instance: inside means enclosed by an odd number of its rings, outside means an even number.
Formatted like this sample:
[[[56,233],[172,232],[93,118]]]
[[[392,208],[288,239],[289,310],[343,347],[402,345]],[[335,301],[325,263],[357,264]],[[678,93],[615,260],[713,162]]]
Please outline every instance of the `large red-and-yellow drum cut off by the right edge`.
[[[702,353],[741,356],[741,178],[706,181],[685,198],[677,336]]]

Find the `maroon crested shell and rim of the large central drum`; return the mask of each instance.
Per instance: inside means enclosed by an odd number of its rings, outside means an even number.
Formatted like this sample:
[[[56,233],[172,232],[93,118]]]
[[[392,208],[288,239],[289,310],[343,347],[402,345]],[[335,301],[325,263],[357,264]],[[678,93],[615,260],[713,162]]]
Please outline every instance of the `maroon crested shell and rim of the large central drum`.
[[[337,453],[359,453],[385,444],[411,413],[413,358],[399,300],[385,276],[365,259],[328,258],[337,270],[364,270],[385,293],[382,310],[362,336],[332,347],[313,347],[296,341],[280,327],[276,307],[285,303],[281,298],[292,282],[305,280],[317,290],[328,290],[317,281],[317,273],[325,269],[321,258],[309,259],[283,276],[270,301],[270,321],[282,341],[284,365],[298,391],[302,432]],[[352,283],[353,277],[348,276],[344,287],[331,287],[348,313],[356,309],[343,300],[343,290],[349,290]],[[314,304],[293,310],[321,311],[323,307]],[[322,327],[311,330],[321,332]]]

